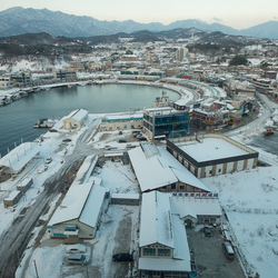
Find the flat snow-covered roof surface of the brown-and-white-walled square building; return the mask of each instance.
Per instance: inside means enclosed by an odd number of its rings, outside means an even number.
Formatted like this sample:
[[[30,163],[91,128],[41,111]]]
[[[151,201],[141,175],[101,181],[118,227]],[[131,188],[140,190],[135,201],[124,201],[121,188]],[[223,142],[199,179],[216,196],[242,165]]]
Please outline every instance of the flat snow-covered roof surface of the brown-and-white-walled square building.
[[[247,151],[220,138],[203,138],[201,142],[177,143],[198,162],[248,155]]]

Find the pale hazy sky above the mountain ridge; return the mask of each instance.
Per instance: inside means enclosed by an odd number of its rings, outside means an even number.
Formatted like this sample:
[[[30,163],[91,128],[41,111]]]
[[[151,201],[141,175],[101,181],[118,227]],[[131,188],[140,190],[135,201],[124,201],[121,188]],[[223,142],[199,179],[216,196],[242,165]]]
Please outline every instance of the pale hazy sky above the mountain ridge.
[[[141,23],[199,19],[245,29],[269,20],[278,20],[277,0],[0,0],[0,10],[11,7],[47,8],[98,20]]]

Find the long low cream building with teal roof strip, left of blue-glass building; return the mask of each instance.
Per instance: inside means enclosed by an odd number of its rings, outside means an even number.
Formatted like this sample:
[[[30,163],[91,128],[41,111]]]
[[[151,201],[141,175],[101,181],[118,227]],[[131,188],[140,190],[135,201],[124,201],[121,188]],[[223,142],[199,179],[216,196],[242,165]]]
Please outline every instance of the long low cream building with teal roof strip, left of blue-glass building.
[[[122,113],[122,115],[108,115],[100,125],[100,131],[126,130],[126,129],[140,129],[142,128],[142,113]]]

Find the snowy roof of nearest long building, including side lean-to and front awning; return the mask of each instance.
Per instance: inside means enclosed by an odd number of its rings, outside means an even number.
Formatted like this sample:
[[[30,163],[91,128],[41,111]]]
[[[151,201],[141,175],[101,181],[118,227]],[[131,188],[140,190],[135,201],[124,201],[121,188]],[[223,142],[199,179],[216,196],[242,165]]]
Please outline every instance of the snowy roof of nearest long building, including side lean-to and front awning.
[[[170,210],[168,193],[143,193],[141,206],[140,247],[161,244],[173,249],[172,258],[139,258],[139,269],[191,271],[187,234],[179,216]]]

